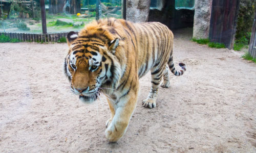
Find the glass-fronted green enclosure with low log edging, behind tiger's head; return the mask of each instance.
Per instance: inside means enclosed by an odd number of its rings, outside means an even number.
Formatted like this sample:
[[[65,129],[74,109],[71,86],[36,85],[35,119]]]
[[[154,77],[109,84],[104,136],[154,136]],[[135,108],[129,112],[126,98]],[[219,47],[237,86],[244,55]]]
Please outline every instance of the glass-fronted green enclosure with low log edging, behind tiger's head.
[[[0,0],[0,35],[22,41],[58,41],[94,19],[125,18],[125,3],[125,0]]]

